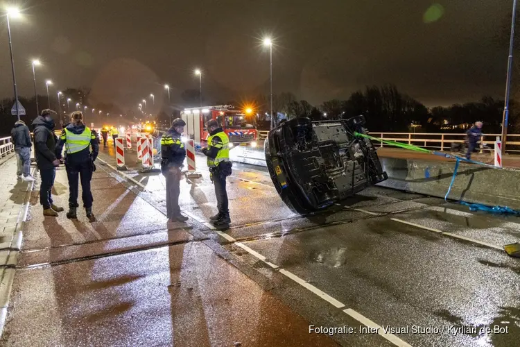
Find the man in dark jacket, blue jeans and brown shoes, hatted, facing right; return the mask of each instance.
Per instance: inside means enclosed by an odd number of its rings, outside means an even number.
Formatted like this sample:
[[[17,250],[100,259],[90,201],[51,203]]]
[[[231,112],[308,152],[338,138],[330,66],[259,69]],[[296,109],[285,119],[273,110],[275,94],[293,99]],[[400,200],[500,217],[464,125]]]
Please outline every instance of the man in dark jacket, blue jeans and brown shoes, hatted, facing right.
[[[33,121],[35,158],[42,184],[40,185],[40,204],[43,206],[44,216],[58,217],[63,208],[54,205],[51,190],[54,185],[56,167],[60,160],[56,158],[56,135],[54,135],[54,119],[57,113],[53,110],[42,110],[40,116]]]

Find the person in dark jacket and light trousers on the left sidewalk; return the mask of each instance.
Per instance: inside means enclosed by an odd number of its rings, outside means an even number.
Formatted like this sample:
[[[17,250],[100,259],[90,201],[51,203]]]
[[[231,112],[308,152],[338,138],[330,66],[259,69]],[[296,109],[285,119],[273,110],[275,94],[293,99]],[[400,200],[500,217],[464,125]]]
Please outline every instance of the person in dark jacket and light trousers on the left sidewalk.
[[[34,180],[31,176],[31,133],[24,121],[17,121],[15,127],[11,130],[12,143],[15,145],[17,155],[17,172],[16,175],[26,181]]]

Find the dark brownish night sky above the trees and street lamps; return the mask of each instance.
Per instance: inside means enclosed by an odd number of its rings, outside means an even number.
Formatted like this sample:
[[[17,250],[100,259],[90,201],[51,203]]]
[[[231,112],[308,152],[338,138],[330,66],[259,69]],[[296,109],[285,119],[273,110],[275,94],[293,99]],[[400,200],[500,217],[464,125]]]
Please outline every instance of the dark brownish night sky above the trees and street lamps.
[[[1,3],[1,0],[0,0]],[[12,3],[12,2],[10,2]],[[209,101],[274,89],[319,104],[365,85],[394,83],[428,106],[503,95],[512,0],[40,0],[19,1],[12,19],[19,94],[37,87],[92,88],[123,110],[150,93],[172,102],[198,88]],[[5,3],[4,6],[5,7]],[[428,8],[430,10],[428,11]],[[5,17],[0,26],[0,96],[12,96]],[[520,42],[519,42],[520,44]],[[520,59],[520,57],[519,57]],[[520,66],[520,65],[518,65]],[[515,67],[515,78],[519,69]],[[150,99],[148,99],[150,100]],[[151,100],[150,100],[151,101]]]

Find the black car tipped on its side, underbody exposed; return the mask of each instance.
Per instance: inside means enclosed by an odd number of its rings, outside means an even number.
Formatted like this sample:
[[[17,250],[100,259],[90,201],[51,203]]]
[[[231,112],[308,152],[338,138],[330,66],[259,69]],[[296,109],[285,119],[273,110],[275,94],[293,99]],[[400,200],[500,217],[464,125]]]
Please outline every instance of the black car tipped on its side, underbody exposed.
[[[295,118],[269,132],[264,146],[272,183],[286,205],[306,214],[388,178],[366,133],[365,117]]]

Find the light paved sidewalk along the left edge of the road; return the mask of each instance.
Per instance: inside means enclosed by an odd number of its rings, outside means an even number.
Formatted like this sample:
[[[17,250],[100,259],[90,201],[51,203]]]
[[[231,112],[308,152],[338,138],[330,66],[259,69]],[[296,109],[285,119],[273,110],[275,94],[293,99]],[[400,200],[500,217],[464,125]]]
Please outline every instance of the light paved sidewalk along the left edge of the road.
[[[10,289],[14,278],[33,182],[16,176],[15,154],[0,162],[0,335],[6,322]],[[31,167],[31,171],[34,167]]]

